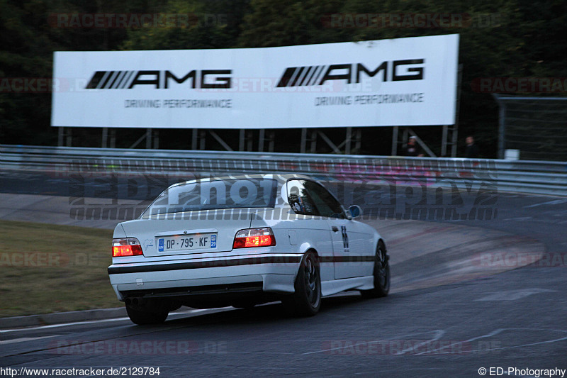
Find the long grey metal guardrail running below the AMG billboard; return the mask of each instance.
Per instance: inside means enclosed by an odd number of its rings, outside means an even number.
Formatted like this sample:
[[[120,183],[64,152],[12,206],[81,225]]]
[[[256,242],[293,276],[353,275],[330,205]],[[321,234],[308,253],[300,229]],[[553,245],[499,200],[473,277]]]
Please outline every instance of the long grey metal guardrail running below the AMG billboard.
[[[567,162],[0,145],[0,167],[196,176],[295,172],[377,184],[480,183],[498,191],[567,196]]]

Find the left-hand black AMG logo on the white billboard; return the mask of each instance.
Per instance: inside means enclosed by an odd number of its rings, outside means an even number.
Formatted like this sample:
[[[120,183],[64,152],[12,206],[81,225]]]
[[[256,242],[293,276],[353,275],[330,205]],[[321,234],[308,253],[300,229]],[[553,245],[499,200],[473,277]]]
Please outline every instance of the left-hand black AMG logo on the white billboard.
[[[96,71],[85,89],[132,89],[136,85],[152,85],[167,89],[171,80],[182,84],[189,80],[190,88],[230,88],[232,70],[193,70],[184,77],[171,71]]]

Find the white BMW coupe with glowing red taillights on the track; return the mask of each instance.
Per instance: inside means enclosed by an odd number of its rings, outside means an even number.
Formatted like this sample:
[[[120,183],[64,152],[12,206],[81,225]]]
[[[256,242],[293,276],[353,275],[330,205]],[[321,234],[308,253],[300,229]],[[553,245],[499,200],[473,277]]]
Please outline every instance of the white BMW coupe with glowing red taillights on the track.
[[[340,291],[388,295],[386,245],[354,220],[360,212],[296,174],[181,182],[116,226],[108,274],[137,324],[162,323],[181,306],[270,301],[311,316]]]

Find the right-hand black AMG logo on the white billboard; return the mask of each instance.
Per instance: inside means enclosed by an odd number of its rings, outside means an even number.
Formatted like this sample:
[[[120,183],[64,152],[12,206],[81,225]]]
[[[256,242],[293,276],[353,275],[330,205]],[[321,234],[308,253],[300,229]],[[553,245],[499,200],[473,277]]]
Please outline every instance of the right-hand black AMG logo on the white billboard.
[[[402,80],[422,80],[425,67],[425,59],[393,60],[382,62],[375,70],[369,70],[362,63],[346,65],[324,65],[309,67],[288,67],[283,72],[277,87],[301,87],[308,85],[322,85],[327,80],[347,80],[347,84],[359,83],[364,73],[368,77],[374,77],[382,72],[382,81],[400,82]],[[400,66],[407,67],[407,72],[400,73]],[[400,68],[398,68],[400,67]],[[388,72],[391,74],[388,75]]]

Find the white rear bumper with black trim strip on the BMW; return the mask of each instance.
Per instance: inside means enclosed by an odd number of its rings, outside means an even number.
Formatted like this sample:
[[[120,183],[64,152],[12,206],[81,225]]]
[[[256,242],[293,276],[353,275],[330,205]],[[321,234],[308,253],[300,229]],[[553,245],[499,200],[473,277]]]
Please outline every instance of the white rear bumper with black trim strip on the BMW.
[[[264,254],[113,264],[108,274],[120,301],[132,296],[206,296],[223,290],[290,294],[302,257]]]

